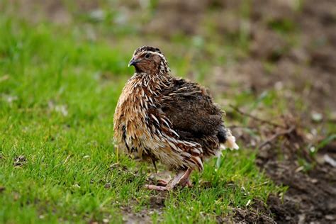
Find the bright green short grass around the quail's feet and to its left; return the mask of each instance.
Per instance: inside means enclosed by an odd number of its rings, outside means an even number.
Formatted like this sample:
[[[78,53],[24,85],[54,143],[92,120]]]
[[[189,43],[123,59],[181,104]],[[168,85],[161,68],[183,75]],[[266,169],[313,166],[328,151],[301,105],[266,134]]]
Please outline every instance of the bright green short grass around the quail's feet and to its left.
[[[120,43],[0,16],[0,223],[122,223],[124,207],[154,209],[150,201],[162,194],[142,187],[152,167],[124,156],[117,161],[113,147],[113,112],[133,73],[126,65],[135,48]],[[191,67],[187,57],[167,57],[177,74]],[[19,156],[26,159],[20,165]],[[215,223],[234,207],[284,191],[254,159],[244,146],[225,151],[218,168],[211,159],[203,174],[193,174],[194,188],[164,195],[151,219]]]

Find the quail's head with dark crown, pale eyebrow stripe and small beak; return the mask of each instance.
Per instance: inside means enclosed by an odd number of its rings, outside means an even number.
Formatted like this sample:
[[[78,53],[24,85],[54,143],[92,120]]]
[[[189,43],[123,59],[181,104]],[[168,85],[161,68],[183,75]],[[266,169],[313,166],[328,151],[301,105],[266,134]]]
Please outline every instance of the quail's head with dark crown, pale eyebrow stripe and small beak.
[[[137,73],[167,74],[170,72],[167,60],[159,48],[150,46],[142,46],[135,50],[128,67],[132,65]]]

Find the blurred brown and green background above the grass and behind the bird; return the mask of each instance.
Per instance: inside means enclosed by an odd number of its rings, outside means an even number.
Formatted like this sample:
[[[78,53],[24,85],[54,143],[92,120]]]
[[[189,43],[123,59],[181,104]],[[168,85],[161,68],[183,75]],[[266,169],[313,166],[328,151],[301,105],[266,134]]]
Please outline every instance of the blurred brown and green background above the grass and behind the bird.
[[[201,80],[215,95],[287,89],[283,97],[302,101],[302,110],[335,112],[332,0],[3,0],[0,7],[2,17],[37,30],[51,23],[61,33],[116,49],[117,65],[100,68],[107,77],[121,73],[108,67],[124,67],[135,48],[155,45],[174,74]]]

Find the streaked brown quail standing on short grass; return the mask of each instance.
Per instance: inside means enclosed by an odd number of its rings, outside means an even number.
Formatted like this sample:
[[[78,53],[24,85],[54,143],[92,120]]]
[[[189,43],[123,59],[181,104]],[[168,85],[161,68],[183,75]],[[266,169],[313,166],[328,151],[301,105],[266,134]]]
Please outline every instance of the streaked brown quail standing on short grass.
[[[205,159],[223,147],[238,149],[223,122],[223,111],[208,89],[174,77],[157,47],[138,47],[128,67],[135,73],[126,82],[113,117],[113,139],[128,155],[161,162],[176,172],[170,181],[145,187],[170,191],[192,186],[190,174],[202,172]]]

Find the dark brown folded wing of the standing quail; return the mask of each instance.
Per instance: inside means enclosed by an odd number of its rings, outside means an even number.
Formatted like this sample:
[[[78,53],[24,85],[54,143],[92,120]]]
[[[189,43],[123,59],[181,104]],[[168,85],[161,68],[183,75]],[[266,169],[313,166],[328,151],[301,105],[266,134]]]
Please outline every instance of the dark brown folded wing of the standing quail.
[[[217,135],[223,125],[223,112],[213,103],[208,91],[184,79],[172,78],[160,104],[182,139]]]

